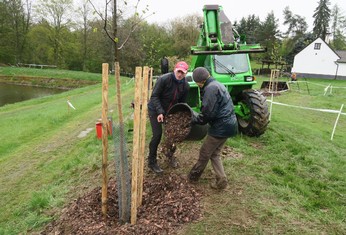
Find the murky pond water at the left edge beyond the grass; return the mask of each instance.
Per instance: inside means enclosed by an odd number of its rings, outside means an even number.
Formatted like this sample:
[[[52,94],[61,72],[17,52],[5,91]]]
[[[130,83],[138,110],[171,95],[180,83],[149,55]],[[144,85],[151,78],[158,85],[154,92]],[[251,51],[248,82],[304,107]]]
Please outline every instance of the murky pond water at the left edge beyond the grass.
[[[0,83],[0,107],[5,104],[13,104],[24,100],[62,93],[64,91],[61,89]]]

